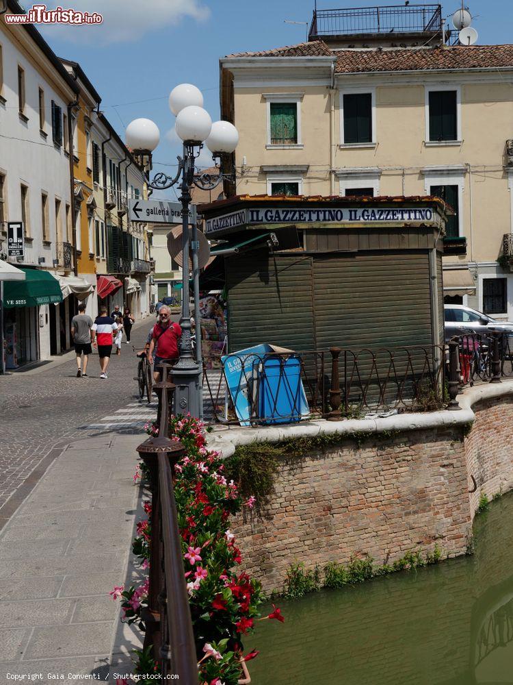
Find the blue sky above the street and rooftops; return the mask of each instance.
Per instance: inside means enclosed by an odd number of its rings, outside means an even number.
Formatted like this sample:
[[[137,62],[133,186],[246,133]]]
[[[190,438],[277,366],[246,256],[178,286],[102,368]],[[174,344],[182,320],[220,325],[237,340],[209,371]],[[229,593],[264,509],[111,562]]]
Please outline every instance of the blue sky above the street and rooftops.
[[[306,39],[313,0],[69,0],[60,4],[101,12],[98,27],[47,26],[42,33],[62,57],[79,62],[102,96],[101,108],[124,139],[124,127],[136,117],[153,119],[161,131],[158,162],[176,162],[179,144],[173,137],[170,90],[181,82],[200,88],[205,108],[219,119],[219,58],[233,52],[293,45]],[[317,8],[400,5],[400,0],[318,0]],[[411,0],[423,4],[423,0]],[[512,0],[473,0],[480,45],[512,42]],[[31,1],[25,0],[29,9]],[[461,7],[443,3],[444,14]],[[205,155],[205,161],[208,160]]]

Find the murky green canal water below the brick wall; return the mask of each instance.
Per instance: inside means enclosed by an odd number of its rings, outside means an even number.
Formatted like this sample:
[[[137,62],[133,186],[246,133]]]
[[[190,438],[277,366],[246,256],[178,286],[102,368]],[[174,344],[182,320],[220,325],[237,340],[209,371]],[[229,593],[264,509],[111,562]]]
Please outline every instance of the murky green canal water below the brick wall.
[[[512,523],[509,493],[476,517],[473,556],[280,600],[285,623],[245,640],[252,685],[513,684]]]

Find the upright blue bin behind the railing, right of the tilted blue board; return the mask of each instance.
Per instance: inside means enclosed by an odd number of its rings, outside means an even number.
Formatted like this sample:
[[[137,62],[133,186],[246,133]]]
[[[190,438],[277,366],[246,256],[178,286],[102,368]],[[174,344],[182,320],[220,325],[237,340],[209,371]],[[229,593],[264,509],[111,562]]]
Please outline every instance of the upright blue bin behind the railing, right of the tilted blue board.
[[[303,391],[300,356],[265,356],[257,365],[258,423],[297,423],[301,419]]]

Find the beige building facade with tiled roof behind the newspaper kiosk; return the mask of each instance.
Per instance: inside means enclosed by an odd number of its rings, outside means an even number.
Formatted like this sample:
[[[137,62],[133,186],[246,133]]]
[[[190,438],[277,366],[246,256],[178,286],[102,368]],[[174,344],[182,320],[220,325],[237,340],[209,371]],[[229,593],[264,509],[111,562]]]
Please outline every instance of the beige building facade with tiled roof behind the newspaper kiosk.
[[[447,301],[513,319],[513,46],[339,49],[221,60],[237,195],[438,195]]]

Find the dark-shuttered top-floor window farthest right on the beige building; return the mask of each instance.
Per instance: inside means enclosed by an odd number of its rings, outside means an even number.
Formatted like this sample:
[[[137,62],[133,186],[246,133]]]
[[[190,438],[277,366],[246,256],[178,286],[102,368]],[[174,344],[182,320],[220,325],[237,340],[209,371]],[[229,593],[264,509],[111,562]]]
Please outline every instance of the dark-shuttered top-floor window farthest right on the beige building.
[[[426,140],[458,142],[460,134],[460,89],[440,88],[426,91]]]

